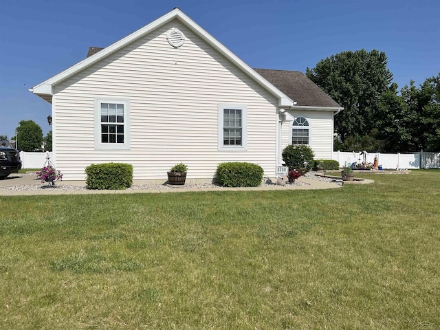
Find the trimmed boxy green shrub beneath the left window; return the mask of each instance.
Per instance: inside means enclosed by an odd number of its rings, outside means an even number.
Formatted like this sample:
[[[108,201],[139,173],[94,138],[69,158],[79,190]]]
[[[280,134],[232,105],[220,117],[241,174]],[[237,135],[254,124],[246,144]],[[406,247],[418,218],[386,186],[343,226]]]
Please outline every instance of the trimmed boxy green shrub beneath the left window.
[[[91,164],[85,168],[87,189],[126,189],[133,184],[133,165],[122,163]]]

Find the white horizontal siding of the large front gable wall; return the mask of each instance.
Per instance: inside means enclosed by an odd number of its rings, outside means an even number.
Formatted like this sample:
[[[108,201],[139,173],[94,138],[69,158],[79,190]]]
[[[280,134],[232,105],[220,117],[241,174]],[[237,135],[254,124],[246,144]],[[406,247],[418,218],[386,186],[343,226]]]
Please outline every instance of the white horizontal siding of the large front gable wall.
[[[184,33],[184,45],[169,45],[170,28]],[[129,148],[95,148],[94,100],[100,96],[129,100]],[[219,104],[245,104],[245,150],[219,151]],[[159,181],[179,162],[188,165],[188,181],[212,179],[221,162],[252,162],[274,175],[277,104],[185,25],[171,21],[54,87],[56,166],[67,180],[83,180],[86,166],[104,162],[132,164],[134,179]]]

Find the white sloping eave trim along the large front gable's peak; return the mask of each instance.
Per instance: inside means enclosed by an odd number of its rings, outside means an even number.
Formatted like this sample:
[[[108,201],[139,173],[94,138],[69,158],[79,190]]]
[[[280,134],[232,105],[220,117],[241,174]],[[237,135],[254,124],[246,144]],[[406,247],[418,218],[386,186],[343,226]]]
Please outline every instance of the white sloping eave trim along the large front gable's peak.
[[[201,39],[203,39],[212,47],[214,47],[214,49],[217,50],[217,52],[225,56],[225,58],[228,58],[229,61],[234,63],[234,65],[239,67],[239,69],[243,70],[243,72],[248,74],[248,76],[252,77],[257,83],[259,83],[261,86],[267,89],[267,91],[270,91],[272,95],[278,98],[278,105],[280,107],[289,107],[294,104],[293,100],[291,100],[289,97],[283,94],[283,92],[281,92],[279,89],[274,87],[274,85],[268,83],[267,80],[263,79],[259,74],[256,74],[256,72],[254,72],[254,70],[251,67],[249,67],[243,61],[241,61],[241,59],[238,58],[236,55],[234,55],[230,50],[228,50],[228,48],[226,48],[221,43],[219,43],[217,39],[214,39],[213,36],[211,36],[210,34],[208,34],[208,32],[203,30],[199,25],[197,25],[188,16],[186,16],[186,14],[181,12],[179,8],[175,8],[171,10],[170,12],[168,12],[168,14],[165,14],[164,16],[159,17],[159,19],[156,19],[152,23],[145,25],[144,28],[140,28],[140,30],[137,30],[132,34],[129,34],[129,36],[120,39],[120,41],[116,41],[109,47],[105,47],[103,50],[100,50],[96,54],[85,58],[85,60],[80,61],[79,63],[73,65],[72,67],[69,67],[60,74],[56,74],[52,78],[45,80],[43,83],[36,85],[34,88],[30,89],[30,91],[40,96],[41,98],[44,98],[48,102],[52,102],[54,85],[61,83],[61,81],[80,72],[81,70],[89,67],[90,65],[93,65],[94,63],[100,61],[102,58],[109,56],[113,52],[120,50],[122,47],[129,45],[129,43],[132,43],[133,41],[140,39],[142,36],[145,36],[146,34],[152,32],[153,30],[159,28],[160,26],[168,23],[173,19],[178,19],[179,21],[181,21],[181,23],[186,25],[186,27],[192,30],[192,32],[197,34],[199,37],[201,37]]]

